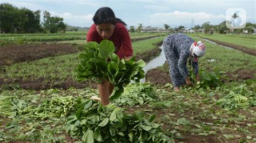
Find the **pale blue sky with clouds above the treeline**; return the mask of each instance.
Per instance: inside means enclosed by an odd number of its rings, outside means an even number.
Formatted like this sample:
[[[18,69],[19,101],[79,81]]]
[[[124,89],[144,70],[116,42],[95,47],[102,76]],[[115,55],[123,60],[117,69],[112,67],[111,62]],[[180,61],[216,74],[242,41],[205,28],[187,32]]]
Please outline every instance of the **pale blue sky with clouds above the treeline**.
[[[256,23],[255,0],[0,0],[1,3],[10,3],[18,8],[30,10],[46,10],[52,16],[64,18],[66,24],[80,27],[90,27],[92,17],[102,6],[110,7],[116,17],[121,18],[129,26],[171,27],[183,25],[191,27],[204,22],[219,24],[225,20],[228,8],[242,8],[246,11],[247,22]],[[42,17],[42,16],[41,16]]]

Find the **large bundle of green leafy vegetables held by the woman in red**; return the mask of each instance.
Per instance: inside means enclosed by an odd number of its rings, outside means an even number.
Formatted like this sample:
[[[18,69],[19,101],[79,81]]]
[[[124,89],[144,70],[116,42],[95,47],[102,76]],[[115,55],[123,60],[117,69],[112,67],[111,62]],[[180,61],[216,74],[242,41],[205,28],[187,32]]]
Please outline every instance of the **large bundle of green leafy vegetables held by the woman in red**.
[[[78,81],[86,79],[102,83],[109,81],[114,86],[110,99],[118,98],[124,91],[124,87],[131,82],[139,82],[145,77],[142,69],[145,67],[143,60],[135,61],[134,58],[125,61],[120,60],[114,53],[112,41],[103,40],[88,42],[85,45],[85,52],[79,54],[80,63],[76,69]]]

